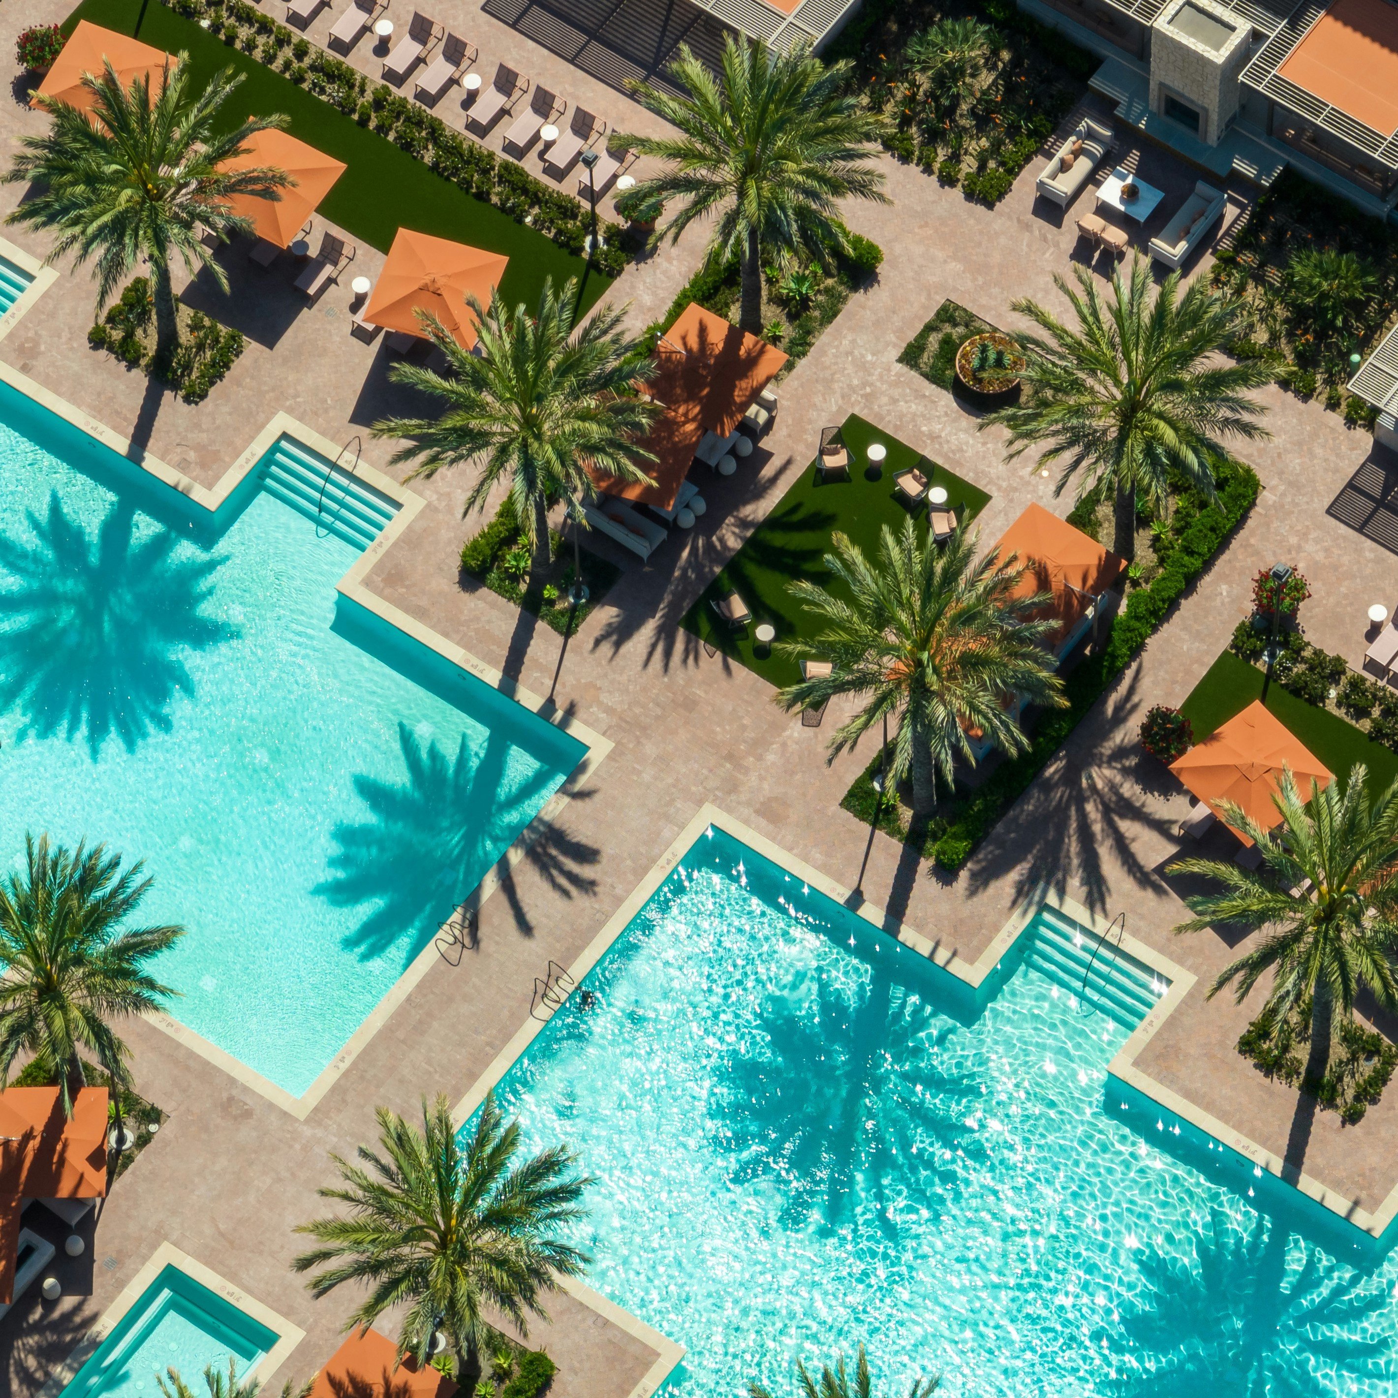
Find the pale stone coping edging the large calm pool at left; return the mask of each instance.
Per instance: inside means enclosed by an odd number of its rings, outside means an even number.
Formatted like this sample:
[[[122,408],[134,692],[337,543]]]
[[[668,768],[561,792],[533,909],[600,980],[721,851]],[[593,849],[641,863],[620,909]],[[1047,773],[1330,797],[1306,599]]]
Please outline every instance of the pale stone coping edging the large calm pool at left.
[[[38,259],[29,256],[29,253],[24,252],[21,247],[15,247],[14,243],[4,238],[0,238],[0,256],[3,256],[7,261],[14,263],[34,278],[28,289],[24,291],[15,301],[14,306],[11,306],[4,316],[0,316],[0,340],[3,340],[4,336],[15,327],[20,319],[34,309],[39,296],[42,296],[42,294],[53,285],[59,274],[55,268],[43,266],[43,263]],[[336,461],[341,456],[341,447],[329,438],[316,432],[313,428],[306,426],[303,422],[296,421],[296,418],[291,417],[288,412],[277,412],[253,438],[243,453],[228,467],[226,471],[224,471],[218,482],[210,488],[190,480],[173,466],[162,461],[158,456],[136,446],[129,438],[123,438],[120,433],[113,432],[105,422],[101,422],[84,412],[60,394],[52,393],[42,384],[35,383],[31,377],[6,363],[3,359],[0,359],[0,383],[8,384],[11,389],[22,393],[27,398],[31,398],[39,407],[48,408],[52,414],[55,414],[55,417],[62,418],[75,426],[80,432],[99,442],[102,446],[109,447],[130,464],[168,485],[179,495],[183,495],[196,507],[207,510],[210,516],[228,502],[233,491],[243,484],[243,481],[256,470],[257,463],[282,438],[295,442],[298,446],[306,447],[317,456],[324,457],[327,461]],[[555,791],[554,795],[544,802],[534,819],[530,821],[523,830],[520,830],[509,849],[487,871],[485,877],[475,886],[466,902],[461,903],[461,906],[438,928],[436,935],[422,948],[421,952],[418,952],[418,955],[408,965],[407,970],[404,970],[393,986],[389,987],[377,1005],[375,1005],[375,1008],[365,1016],[350,1039],[345,1040],[334,1058],[331,1058],[331,1061],[317,1074],[315,1081],[303,1093],[301,1093],[301,1096],[296,1096],[285,1088],[278,1086],[275,1082],[271,1082],[271,1079],[264,1078],[260,1072],[249,1068],[225,1048],[219,1048],[217,1044],[211,1043],[194,1029],[190,1029],[189,1025],[175,1019],[172,1015],[162,1014],[150,1016],[151,1023],[162,1029],[172,1039],[178,1040],[206,1061],[214,1064],[214,1067],[221,1068],[243,1086],[250,1088],[268,1102],[275,1103],[299,1121],[303,1121],[308,1116],[310,1116],[316,1104],[326,1096],[327,1092],[330,1092],[336,1082],[338,1082],[343,1076],[344,1071],[365,1050],[369,1040],[373,1039],[384,1023],[387,1023],[393,1012],[403,1004],[404,1000],[407,1000],[414,987],[432,969],[433,963],[440,956],[438,942],[442,941],[443,937],[452,942],[459,935],[456,928],[467,925],[470,920],[477,917],[485,900],[500,886],[500,884],[505,882],[510,871],[528,854],[534,842],[538,840],[552,822],[559,818],[570,797],[582,790],[591,774],[597,770],[597,766],[612,749],[611,738],[603,737],[603,734],[589,728],[587,724],[580,723],[572,714],[558,709],[551,700],[535,695],[531,689],[527,689],[524,685],[510,679],[492,665],[485,664],[484,660],[473,656],[468,650],[463,650],[454,642],[450,642],[445,636],[432,630],[431,626],[422,625],[422,622],[410,617],[401,608],[394,607],[393,603],[386,601],[377,593],[369,590],[365,579],[369,576],[370,569],[373,569],[379,559],[383,558],[383,555],[393,548],[398,538],[403,537],[403,533],[418,517],[426,502],[421,495],[417,495],[415,492],[400,485],[393,480],[393,477],[386,475],[362,461],[358,463],[354,470],[354,478],[361,485],[369,487],[372,491],[390,500],[396,506],[396,512],[393,519],[389,520],[389,523],[379,533],[377,538],[375,538],[375,541],[354,561],[350,570],[340,579],[336,584],[336,590],[343,597],[356,603],[365,611],[372,612],[375,617],[387,622],[396,630],[403,632],[405,636],[419,642],[428,650],[436,651],[436,654],[442,656],[460,670],[474,675],[482,684],[489,685],[492,689],[498,689],[506,699],[513,699],[535,717],[542,719],[545,723],[552,724],[569,737],[576,738],[580,744],[583,744],[586,752],[558,791]]]

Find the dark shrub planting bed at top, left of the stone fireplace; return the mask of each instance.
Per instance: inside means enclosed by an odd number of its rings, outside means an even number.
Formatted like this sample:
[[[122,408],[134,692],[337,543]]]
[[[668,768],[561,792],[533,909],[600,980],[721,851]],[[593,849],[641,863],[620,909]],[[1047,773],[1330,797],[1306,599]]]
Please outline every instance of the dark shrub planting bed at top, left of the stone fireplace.
[[[949,106],[913,73],[906,49],[938,20],[962,15],[990,25],[994,52],[984,77]],[[1009,193],[1102,63],[1015,0],[867,0],[825,56],[853,59],[870,103],[893,126],[884,144],[895,155],[986,204]]]

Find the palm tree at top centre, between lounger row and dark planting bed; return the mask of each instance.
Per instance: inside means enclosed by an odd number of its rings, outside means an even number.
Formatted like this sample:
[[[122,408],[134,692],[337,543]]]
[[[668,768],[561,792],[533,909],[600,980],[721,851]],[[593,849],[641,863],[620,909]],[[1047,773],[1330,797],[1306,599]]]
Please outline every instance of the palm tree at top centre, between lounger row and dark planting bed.
[[[632,84],[636,101],[679,134],[618,137],[670,162],[628,197],[653,214],[679,201],[657,238],[675,240],[695,219],[717,218],[709,256],[740,260],[738,324],[758,334],[763,261],[805,256],[825,266],[830,250],[847,246],[839,201],[888,203],[884,176],[863,165],[882,120],[861,103],[849,63],[826,67],[801,45],[780,53],[730,34],[719,75],[685,45],[670,74],[682,96]]]

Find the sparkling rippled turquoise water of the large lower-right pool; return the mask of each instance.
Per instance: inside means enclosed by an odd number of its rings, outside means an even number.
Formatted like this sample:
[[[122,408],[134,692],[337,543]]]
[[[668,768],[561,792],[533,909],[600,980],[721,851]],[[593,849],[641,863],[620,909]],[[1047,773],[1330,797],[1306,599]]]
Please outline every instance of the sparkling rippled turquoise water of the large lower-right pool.
[[[793,1392],[858,1341],[888,1395],[1394,1392],[1398,1264],[1127,1100],[1124,1016],[1053,963],[977,1014],[699,839],[500,1085],[527,1148],[597,1177],[589,1281],[688,1346],[674,1392]]]

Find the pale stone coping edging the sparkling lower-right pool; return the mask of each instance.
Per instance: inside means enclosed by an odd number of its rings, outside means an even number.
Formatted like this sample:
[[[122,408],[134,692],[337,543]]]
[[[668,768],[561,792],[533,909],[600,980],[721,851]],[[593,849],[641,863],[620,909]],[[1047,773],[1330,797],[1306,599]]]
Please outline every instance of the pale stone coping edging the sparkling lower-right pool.
[[[1109,923],[1107,918],[1100,917],[1074,899],[1065,898],[1046,885],[1026,893],[1025,898],[1016,905],[1015,911],[1005,921],[1004,927],[1001,927],[995,938],[986,946],[974,962],[969,962],[959,956],[955,948],[948,946],[939,938],[924,937],[916,928],[909,927],[899,918],[889,916],[884,909],[868,903],[861,895],[851,893],[850,889],[836,884],[835,879],[826,878],[819,870],[807,864],[804,860],[797,858],[794,854],[787,853],[781,849],[781,846],[721,811],[717,805],[705,804],[695,814],[693,819],[675,837],[670,849],[667,849],[665,853],[661,854],[660,858],[651,865],[650,871],[636,885],[630,896],[608,918],[605,927],[603,927],[591,942],[587,944],[573,965],[568,967],[568,973],[573,977],[575,984],[582,984],[583,977],[603,959],[612,942],[622,935],[642,907],[644,907],[660,885],[670,877],[675,865],[679,864],[695,842],[699,840],[705,830],[710,826],[733,836],[733,839],[776,864],[793,878],[800,878],[811,888],[825,893],[826,898],[843,905],[850,913],[863,918],[871,927],[877,927],[888,935],[895,937],[910,951],[917,952],[920,956],[925,956],[942,970],[955,976],[972,991],[979,991],[981,986],[984,986],[986,980],[1000,969],[1019,935],[1029,927],[1042,907],[1057,909],[1064,916],[1078,923],[1078,925],[1085,931],[1099,938],[1106,938],[1111,928],[1111,923]],[[1159,997],[1155,1007],[1145,1015],[1127,1042],[1117,1050],[1111,1062],[1107,1064],[1109,1075],[1117,1078],[1127,1086],[1134,1088],[1142,1096],[1148,1097],[1156,1106],[1169,1111],[1180,1121],[1187,1123],[1204,1135],[1211,1137],[1213,1141],[1220,1142],[1230,1151],[1237,1152],[1237,1155],[1253,1162],[1253,1165],[1261,1167],[1268,1174],[1290,1184],[1300,1194],[1321,1205],[1321,1208],[1329,1213],[1352,1223],[1374,1240],[1381,1239],[1385,1229],[1388,1229],[1394,1222],[1395,1215],[1398,1215],[1398,1186],[1390,1191],[1378,1209],[1370,1213],[1360,1208],[1357,1201],[1353,1198],[1331,1190],[1313,1176],[1297,1176],[1296,1172],[1286,1167],[1285,1160],[1281,1156],[1268,1151],[1265,1146],[1258,1145],[1243,1132],[1233,1130],[1227,1125],[1227,1123],[1220,1121],[1218,1117],[1204,1111],[1201,1107],[1197,1107],[1187,1097],[1183,1097],[1180,1093],[1166,1088],[1163,1083],[1158,1082],[1155,1078],[1149,1076],[1137,1067],[1137,1060],[1144,1053],[1146,1044],[1151,1043],[1160,1026],[1170,1018],[1174,1009],[1183,1002],[1184,997],[1194,988],[1198,977],[1194,972],[1187,970],[1184,966],[1170,960],[1169,956],[1158,952],[1153,946],[1149,946],[1128,934],[1121,937],[1120,948],[1123,953],[1139,962],[1162,980],[1169,981],[1169,988]],[[485,1072],[482,1072],[481,1076],[471,1085],[470,1092],[467,1092],[467,1095],[457,1103],[454,1120],[459,1125],[464,1123],[485,1100],[485,1095],[500,1082],[506,1072],[509,1072],[516,1060],[524,1054],[547,1022],[547,1019],[538,1021],[533,1016],[524,1021],[514,1037],[510,1039],[510,1042],[500,1050]]]

